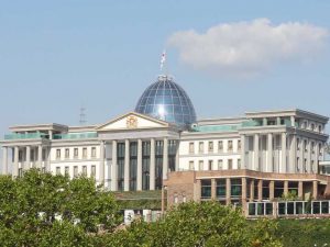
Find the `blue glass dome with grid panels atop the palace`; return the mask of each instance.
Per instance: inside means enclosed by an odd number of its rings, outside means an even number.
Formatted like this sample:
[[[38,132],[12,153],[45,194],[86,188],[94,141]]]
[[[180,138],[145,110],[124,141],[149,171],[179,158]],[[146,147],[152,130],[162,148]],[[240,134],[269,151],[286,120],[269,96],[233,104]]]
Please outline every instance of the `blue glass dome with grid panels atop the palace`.
[[[146,88],[138,101],[135,112],[179,126],[196,122],[195,109],[188,94],[167,76],[160,76],[156,82]]]

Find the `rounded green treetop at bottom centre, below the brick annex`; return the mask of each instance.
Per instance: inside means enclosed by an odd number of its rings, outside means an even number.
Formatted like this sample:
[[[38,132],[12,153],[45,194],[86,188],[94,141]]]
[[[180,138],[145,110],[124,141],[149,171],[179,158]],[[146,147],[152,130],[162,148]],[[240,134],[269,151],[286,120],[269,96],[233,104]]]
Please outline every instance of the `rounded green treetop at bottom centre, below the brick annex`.
[[[124,231],[103,236],[98,246],[282,246],[274,238],[275,231],[274,222],[256,221],[252,226],[240,211],[218,202],[189,202],[158,222],[138,220]]]

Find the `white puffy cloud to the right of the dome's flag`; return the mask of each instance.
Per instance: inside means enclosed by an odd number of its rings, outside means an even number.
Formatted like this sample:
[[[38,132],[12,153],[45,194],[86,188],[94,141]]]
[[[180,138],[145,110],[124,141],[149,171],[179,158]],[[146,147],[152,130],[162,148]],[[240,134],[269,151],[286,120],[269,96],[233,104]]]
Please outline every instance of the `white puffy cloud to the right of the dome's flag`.
[[[168,45],[197,70],[250,76],[283,61],[311,60],[327,44],[329,31],[308,23],[274,25],[268,19],[223,23],[198,33],[174,33]]]

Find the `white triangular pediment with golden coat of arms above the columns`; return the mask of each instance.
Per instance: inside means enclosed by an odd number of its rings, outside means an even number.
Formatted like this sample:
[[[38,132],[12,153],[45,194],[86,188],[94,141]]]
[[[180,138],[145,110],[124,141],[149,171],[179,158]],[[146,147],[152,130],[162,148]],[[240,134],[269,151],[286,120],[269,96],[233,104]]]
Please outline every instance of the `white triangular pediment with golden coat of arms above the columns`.
[[[136,112],[130,112],[98,126],[97,131],[158,128],[158,127],[168,127],[168,123]]]

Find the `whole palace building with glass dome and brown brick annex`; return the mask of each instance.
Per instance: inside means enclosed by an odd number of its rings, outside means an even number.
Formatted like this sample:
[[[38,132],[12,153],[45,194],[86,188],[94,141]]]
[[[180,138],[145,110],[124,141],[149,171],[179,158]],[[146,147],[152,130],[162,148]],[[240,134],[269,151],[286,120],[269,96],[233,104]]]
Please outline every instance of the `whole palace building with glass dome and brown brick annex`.
[[[160,76],[134,111],[98,125],[10,127],[2,173],[30,168],[95,177],[111,191],[167,190],[167,205],[301,200],[330,193],[324,161],[328,116],[293,109],[197,120],[173,78]],[[322,164],[323,167],[322,168]]]

